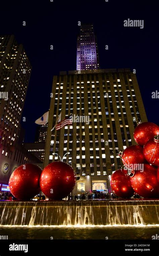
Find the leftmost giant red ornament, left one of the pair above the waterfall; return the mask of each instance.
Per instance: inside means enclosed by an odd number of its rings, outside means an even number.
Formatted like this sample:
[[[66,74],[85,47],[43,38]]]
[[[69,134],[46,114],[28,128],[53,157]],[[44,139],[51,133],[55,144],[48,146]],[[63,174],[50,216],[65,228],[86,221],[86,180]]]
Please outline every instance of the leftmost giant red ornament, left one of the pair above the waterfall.
[[[19,200],[29,200],[40,192],[39,179],[42,169],[34,164],[23,164],[10,176],[9,188]]]

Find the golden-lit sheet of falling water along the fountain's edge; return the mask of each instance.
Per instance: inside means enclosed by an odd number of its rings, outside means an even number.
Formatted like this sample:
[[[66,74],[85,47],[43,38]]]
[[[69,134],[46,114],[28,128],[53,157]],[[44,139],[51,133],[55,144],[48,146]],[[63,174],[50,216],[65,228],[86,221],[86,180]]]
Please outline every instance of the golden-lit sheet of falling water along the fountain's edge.
[[[0,225],[155,225],[159,200],[0,202]]]

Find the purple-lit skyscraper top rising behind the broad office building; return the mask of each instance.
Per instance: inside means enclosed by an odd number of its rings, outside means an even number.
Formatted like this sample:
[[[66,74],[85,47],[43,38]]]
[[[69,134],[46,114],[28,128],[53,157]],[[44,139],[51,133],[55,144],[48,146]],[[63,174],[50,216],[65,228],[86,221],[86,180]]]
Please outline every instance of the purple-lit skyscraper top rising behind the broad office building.
[[[97,40],[92,24],[81,25],[77,37],[77,70],[99,69]]]

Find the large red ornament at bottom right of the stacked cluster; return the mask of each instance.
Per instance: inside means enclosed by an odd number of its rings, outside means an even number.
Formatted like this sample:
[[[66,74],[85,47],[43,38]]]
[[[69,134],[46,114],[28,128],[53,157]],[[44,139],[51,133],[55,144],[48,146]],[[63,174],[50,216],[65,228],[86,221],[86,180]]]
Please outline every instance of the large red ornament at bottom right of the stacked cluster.
[[[134,177],[130,178],[134,191],[142,197],[158,197],[159,183],[157,180],[157,168],[144,164],[143,170],[135,171]]]

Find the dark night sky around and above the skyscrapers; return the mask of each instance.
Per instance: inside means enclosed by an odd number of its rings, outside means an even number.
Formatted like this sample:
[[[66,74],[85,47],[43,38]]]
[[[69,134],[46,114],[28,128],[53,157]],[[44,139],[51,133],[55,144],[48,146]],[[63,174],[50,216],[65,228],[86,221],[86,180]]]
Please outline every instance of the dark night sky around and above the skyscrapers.
[[[158,47],[156,0],[27,0],[1,1],[0,34],[14,34],[32,64],[21,122],[25,142],[34,142],[35,120],[49,109],[53,75],[76,70],[78,21],[93,23],[100,68],[131,68],[136,75],[150,122],[159,125]],[[144,29],[124,27],[123,21],[144,20]],[[22,22],[26,26],[22,26]],[[50,50],[53,45],[54,50]],[[109,50],[105,50],[108,45]]]

